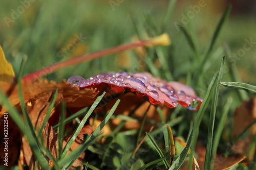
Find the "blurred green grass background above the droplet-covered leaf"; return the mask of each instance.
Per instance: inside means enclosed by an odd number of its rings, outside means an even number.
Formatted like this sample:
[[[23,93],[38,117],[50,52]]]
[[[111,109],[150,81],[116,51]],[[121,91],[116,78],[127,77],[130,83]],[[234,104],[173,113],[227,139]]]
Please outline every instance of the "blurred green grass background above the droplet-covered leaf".
[[[175,60],[172,61],[175,64],[170,63],[172,67],[170,69],[176,79],[187,72],[187,62],[184,61],[189,60],[192,52],[183,33],[177,31],[174,23],[181,22],[182,14],[186,16],[188,11],[193,11],[191,7],[199,5],[199,2],[178,1],[172,17],[168,20],[166,30],[172,39],[172,45],[169,48],[172,49]],[[193,25],[197,33],[201,53],[207,47],[228,4],[226,1],[203,2],[205,6],[198,12],[194,12],[195,16],[191,17],[187,24]],[[225,54],[223,51],[225,43],[229,45],[231,53],[238,53],[243,48],[245,39],[252,38],[252,41],[256,42],[256,22],[255,12],[253,12],[255,3],[232,1],[232,4],[231,16],[215,45],[216,62],[212,62],[211,70],[219,67],[220,59]],[[51,63],[76,55],[132,42],[136,36],[132,18],[137,19],[143,26],[145,22],[143,15],[151,13],[156,25],[160,25],[167,5],[168,1],[1,1],[0,44],[16,73],[22,57],[28,56],[25,74],[29,74]],[[86,38],[82,39],[81,44],[72,46],[76,36],[80,35]],[[251,49],[236,61],[243,82],[254,84],[256,82],[254,79],[255,52],[256,45],[253,44]],[[120,62],[115,59],[117,55],[62,69],[48,76],[48,79],[59,81],[73,75],[88,77],[102,71],[129,70],[131,68],[129,64],[132,62],[127,62],[127,65],[118,65]],[[131,53],[122,55],[129,58],[127,59],[129,61],[134,57]],[[216,68],[215,63],[218,66]]]

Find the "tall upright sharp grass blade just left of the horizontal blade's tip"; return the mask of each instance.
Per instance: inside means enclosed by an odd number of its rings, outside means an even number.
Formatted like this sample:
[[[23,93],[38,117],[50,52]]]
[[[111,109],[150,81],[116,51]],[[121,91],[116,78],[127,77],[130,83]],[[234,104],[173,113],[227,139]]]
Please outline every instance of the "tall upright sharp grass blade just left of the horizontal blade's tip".
[[[219,91],[220,91],[221,78],[222,78],[223,70],[224,70],[224,64],[225,64],[225,55],[222,57],[219,76],[217,78],[215,95],[212,96],[214,98],[214,102],[211,105],[210,120],[209,120],[209,126],[208,126],[207,144],[206,144],[206,154],[205,154],[205,161],[204,161],[204,169],[210,169],[210,164],[211,164],[211,160],[212,160],[212,158],[211,158],[212,138],[213,138],[213,135],[214,135],[214,124],[215,124],[217,103],[218,103],[218,97],[219,97]]]

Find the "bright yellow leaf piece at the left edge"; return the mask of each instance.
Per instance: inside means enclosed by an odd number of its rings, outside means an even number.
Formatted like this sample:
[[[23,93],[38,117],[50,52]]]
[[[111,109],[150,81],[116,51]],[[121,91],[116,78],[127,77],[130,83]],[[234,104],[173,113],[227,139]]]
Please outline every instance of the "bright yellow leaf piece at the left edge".
[[[0,45],[0,82],[12,82],[15,77],[11,63],[7,62],[2,46]]]

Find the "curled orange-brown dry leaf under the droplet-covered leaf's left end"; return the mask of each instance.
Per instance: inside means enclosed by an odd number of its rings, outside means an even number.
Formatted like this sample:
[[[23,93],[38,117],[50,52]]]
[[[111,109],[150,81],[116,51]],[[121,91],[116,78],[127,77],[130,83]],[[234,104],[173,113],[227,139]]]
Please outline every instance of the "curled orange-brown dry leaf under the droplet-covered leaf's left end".
[[[0,89],[8,94],[9,102],[13,106],[19,108],[20,105],[16,83],[14,85],[12,83],[1,83]],[[68,104],[68,107],[85,107],[92,105],[99,93],[96,88],[79,89],[78,87],[72,87],[72,85],[65,80],[58,83],[54,81],[49,82],[47,79],[35,80],[33,82],[22,81],[22,92],[25,103],[36,101],[37,99],[47,100],[55,89],[59,90],[59,93],[63,98],[62,100]],[[6,111],[7,110],[3,108],[0,111],[0,116]]]

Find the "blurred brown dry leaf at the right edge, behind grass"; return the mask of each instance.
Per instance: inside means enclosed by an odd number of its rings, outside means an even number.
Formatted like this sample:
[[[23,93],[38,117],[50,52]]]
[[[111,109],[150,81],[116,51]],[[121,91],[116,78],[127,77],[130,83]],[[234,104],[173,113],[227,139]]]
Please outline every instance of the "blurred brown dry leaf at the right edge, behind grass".
[[[256,98],[244,101],[240,107],[234,112],[233,138],[237,137],[247,126],[256,119]],[[256,124],[254,124],[248,132],[250,135],[244,139],[239,139],[232,148],[237,153],[246,155],[253,136],[256,134]],[[253,149],[254,151],[254,149]],[[253,158],[254,152],[251,152],[249,160]]]

